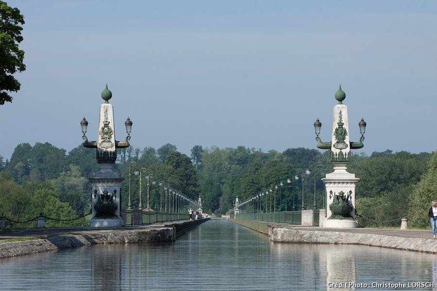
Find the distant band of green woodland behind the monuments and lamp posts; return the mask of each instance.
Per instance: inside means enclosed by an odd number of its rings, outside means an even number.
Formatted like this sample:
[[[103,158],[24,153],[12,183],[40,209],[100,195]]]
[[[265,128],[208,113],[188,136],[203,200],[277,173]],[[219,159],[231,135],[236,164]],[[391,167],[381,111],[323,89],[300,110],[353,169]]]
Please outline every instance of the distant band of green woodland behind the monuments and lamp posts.
[[[171,144],[158,149],[129,147],[118,151],[116,163],[116,170],[125,178],[121,188],[123,208],[128,203],[128,175],[132,162],[138,169],[144,168],[145,172],[152,173],[157,181],[163,180],[164,185],[169,184],[192,199],[197,200],[201,196],[204,209],[216,214],[232,211],[236,196],[244,201],[260,192],[274,190],[275,185],[281,181],[285,183],[287,178],[293,180],[295,175],[299,176],[299,180],[294,180],[295,205],[301,206],[303,176],[304,206],[312,208],[314,173],[317,173],[316,203],[321,207],[325,190],[320,179],[332,172],[328,152],[307,148],[266,153],[244,146],[194,146],[191,157],[188,157]],[[311,174],[303,174],[302,171],[310,167]],[[36,143],[34,146],[20,144],[9,161],[0,156],[0,212],[16,220],[34,217],[39,212],[64,219],[86,214],[90,210],[87,177],[98,170],[93,149],[78,146],[67,153],[49,143]],[[134,167],[131,174],[133,170]],[[370,156],[353,154],[349,171],[360,178],[356,188],[356,208],[363,217],[359,218],[361,225],[398,226],[399,221],[385,221],[403,215],[410,218],[413,226],[427,225],[430,202],[437,199],[436,153],[394,153],[386,150],[373,152]],[[143,206],[146,184],[143,179]],[[293,182],[287,185],[287,210],[291,210],[293,204],[292,185]],[[153,187],[150,185],[151,203]],[[276,191],[278,209],[281,188]],[[284,210],[285,188],[282,191]],[[137,208],[139,181],[134,175],[131,176],[131,201],[132,207]],[[60,224],[50,223],[51,226]],[[84,220],[69,223],[84,224]]]

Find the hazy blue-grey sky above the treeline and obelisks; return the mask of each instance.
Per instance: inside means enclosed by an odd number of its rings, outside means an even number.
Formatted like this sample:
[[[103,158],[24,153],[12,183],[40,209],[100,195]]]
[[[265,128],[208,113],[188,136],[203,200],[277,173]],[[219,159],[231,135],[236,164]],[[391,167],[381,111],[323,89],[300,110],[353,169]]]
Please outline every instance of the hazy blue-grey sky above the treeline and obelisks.
[[[21,90],[0,106],[0,154],[97,139],[112,91],[116,139],[264,151],[330,139],[341,83],[367,154],[437,145],[437,1],[27,1]]]

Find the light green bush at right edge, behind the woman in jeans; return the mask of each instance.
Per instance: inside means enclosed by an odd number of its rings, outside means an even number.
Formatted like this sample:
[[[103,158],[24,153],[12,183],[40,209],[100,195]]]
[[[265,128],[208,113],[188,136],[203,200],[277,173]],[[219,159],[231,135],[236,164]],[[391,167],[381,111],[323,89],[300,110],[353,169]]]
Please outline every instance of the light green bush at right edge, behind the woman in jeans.
[[[428,210],[433,200],[437,200],[437,152],[433,152],[428,162],[428,171],[410,195],[408,222],[411,226],[429,225]]]

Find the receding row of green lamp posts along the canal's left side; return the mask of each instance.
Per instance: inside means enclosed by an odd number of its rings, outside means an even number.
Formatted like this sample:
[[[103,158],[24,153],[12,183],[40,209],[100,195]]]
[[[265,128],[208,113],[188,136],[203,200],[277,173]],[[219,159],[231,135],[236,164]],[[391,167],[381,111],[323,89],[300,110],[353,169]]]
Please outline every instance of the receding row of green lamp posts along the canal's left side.
[[[132,168],[133,171],[132,171]],[[159,210],[160,211],[168,211],[168,212],[181,212],[189,205],[200,207],[200,205],[193,201],[192,199],[186,197],[184,194],[181,194],[178,190],[170,187],[168,184],[164,186],[164,181],[159,181],[159,179],[154,179],[153,174],[147,173],[146,168],[138,169],[136,167],[136,162],[131,162],[129,164],[129,200],[128,200],[128,210],[132,210],[132,204],[131,204],[131,177],[132,174],[134,176],[139,176],[139,204],[138,209],[143,209],[142,204],[142,178],[144,176],[145,179],[147,179],[147,200],[146,200],[146,210],[150,209],[150,184],[154,186],[155,193],[154,193],[154,210],[158,209],[158,187],[160,187],[160,199],[159,199]],[[164,187],[163,187],[164,186]],[[163,190],[164,190],[164,199],[163,199]],[[163,203],[164,200],[164,203]],[[164,208],[163,208],[164,207]]]

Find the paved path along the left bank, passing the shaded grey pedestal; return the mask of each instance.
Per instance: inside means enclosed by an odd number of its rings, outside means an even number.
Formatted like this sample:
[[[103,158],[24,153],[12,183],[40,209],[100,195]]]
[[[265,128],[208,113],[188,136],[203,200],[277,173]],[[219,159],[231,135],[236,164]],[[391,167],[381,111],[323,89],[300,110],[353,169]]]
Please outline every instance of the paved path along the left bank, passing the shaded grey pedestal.
[[[117,229],[121,231],[132,229],[144,229],[144,228],[159,228],[173,224],[180,224],[187,222],[188,220],[168,221],[161,224],[147,225],[147,226],[127,226],[120,228],[103,228],[103,229],[91,229],[89,227],[75,227],[75,228],[31,228],[31,229],[14,229],[14,230],[0,230],[0,240],[20,238],[20,237],[35,237],[46,238],[51,236],[60,235],[76,235],[76,234],[97,234],[105,233],[111,229]]]

